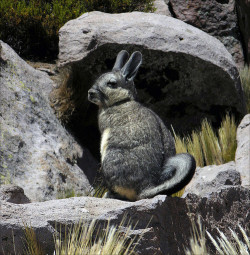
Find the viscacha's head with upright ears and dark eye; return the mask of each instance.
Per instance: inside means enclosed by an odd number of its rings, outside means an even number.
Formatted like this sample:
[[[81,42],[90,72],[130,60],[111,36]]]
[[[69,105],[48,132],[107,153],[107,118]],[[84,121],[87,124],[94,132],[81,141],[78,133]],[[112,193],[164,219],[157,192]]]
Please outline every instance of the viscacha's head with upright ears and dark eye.
[[[101,75],[88,91],[90,102],[99,107],[110,107],[135,99],[134,78],[142,63],[142,54],[136,51],[129,60],[128,57],[127,51],[119,52],[112,71]]]

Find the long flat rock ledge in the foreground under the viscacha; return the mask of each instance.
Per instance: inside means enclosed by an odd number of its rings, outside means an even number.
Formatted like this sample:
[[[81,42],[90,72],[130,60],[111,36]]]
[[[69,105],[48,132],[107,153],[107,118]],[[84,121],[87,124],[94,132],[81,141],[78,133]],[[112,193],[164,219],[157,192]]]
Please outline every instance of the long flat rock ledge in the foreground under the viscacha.
[[[138,254],[184,254],[191,230],[188,215],[201,215],[203,225],[210,233],[214,233],[216,227],[225,232],[228,227],[235,230],[237,224],[241,224],[249,234],[249,197],[248,189],[233,187],[213,193],[210,198],[189,194],[185,199],[160,195],[136,202],[91,197],[26,205],[3,202],[0,212],[0,250],[14,254],[14,234],[16,250],[22,251],[24,223],[35,231],[45,253],[52,254],[53,233],[58,231],[60,225],[64,229],[64,226],[71,226],[72,223],[82,220],[90,222],[92,219],[98,220],[100,227],[105,226],[108,220],[111,225],[119,225],[127,215],[133,225],[138,222],[130,233],[131,237],[144,233],[136,248]]]

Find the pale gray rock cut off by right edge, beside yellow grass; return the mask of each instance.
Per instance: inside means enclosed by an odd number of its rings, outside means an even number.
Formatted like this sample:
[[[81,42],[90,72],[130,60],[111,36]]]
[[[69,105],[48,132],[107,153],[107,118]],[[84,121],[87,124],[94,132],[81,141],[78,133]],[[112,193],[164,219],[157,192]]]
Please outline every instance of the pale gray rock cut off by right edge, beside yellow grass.
[[[250,188],[250,114],[243,118],[237,129],[235,162],[242,186]]]

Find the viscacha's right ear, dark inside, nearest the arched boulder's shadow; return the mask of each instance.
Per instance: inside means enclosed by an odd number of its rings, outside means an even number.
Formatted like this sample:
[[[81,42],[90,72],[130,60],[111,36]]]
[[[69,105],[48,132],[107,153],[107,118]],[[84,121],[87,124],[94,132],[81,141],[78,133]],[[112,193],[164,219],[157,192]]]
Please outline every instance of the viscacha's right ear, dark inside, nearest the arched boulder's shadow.
[[[122,68],[121,73],[127,81],[132,81],[142,63],[142,54],[139,51],[135,51],[128,62]]]

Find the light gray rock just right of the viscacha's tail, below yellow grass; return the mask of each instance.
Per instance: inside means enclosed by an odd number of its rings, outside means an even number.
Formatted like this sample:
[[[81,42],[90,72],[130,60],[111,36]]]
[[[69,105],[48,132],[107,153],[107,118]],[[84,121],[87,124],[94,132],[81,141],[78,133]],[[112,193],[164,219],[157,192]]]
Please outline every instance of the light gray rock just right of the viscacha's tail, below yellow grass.
[[[183,197],[188,193],[209,197],[213,192],[219,192],[227,186],[240,184],[240,174],[236,171],[234,161],[218,166],[197,167],[193,179],[185,188]]]

